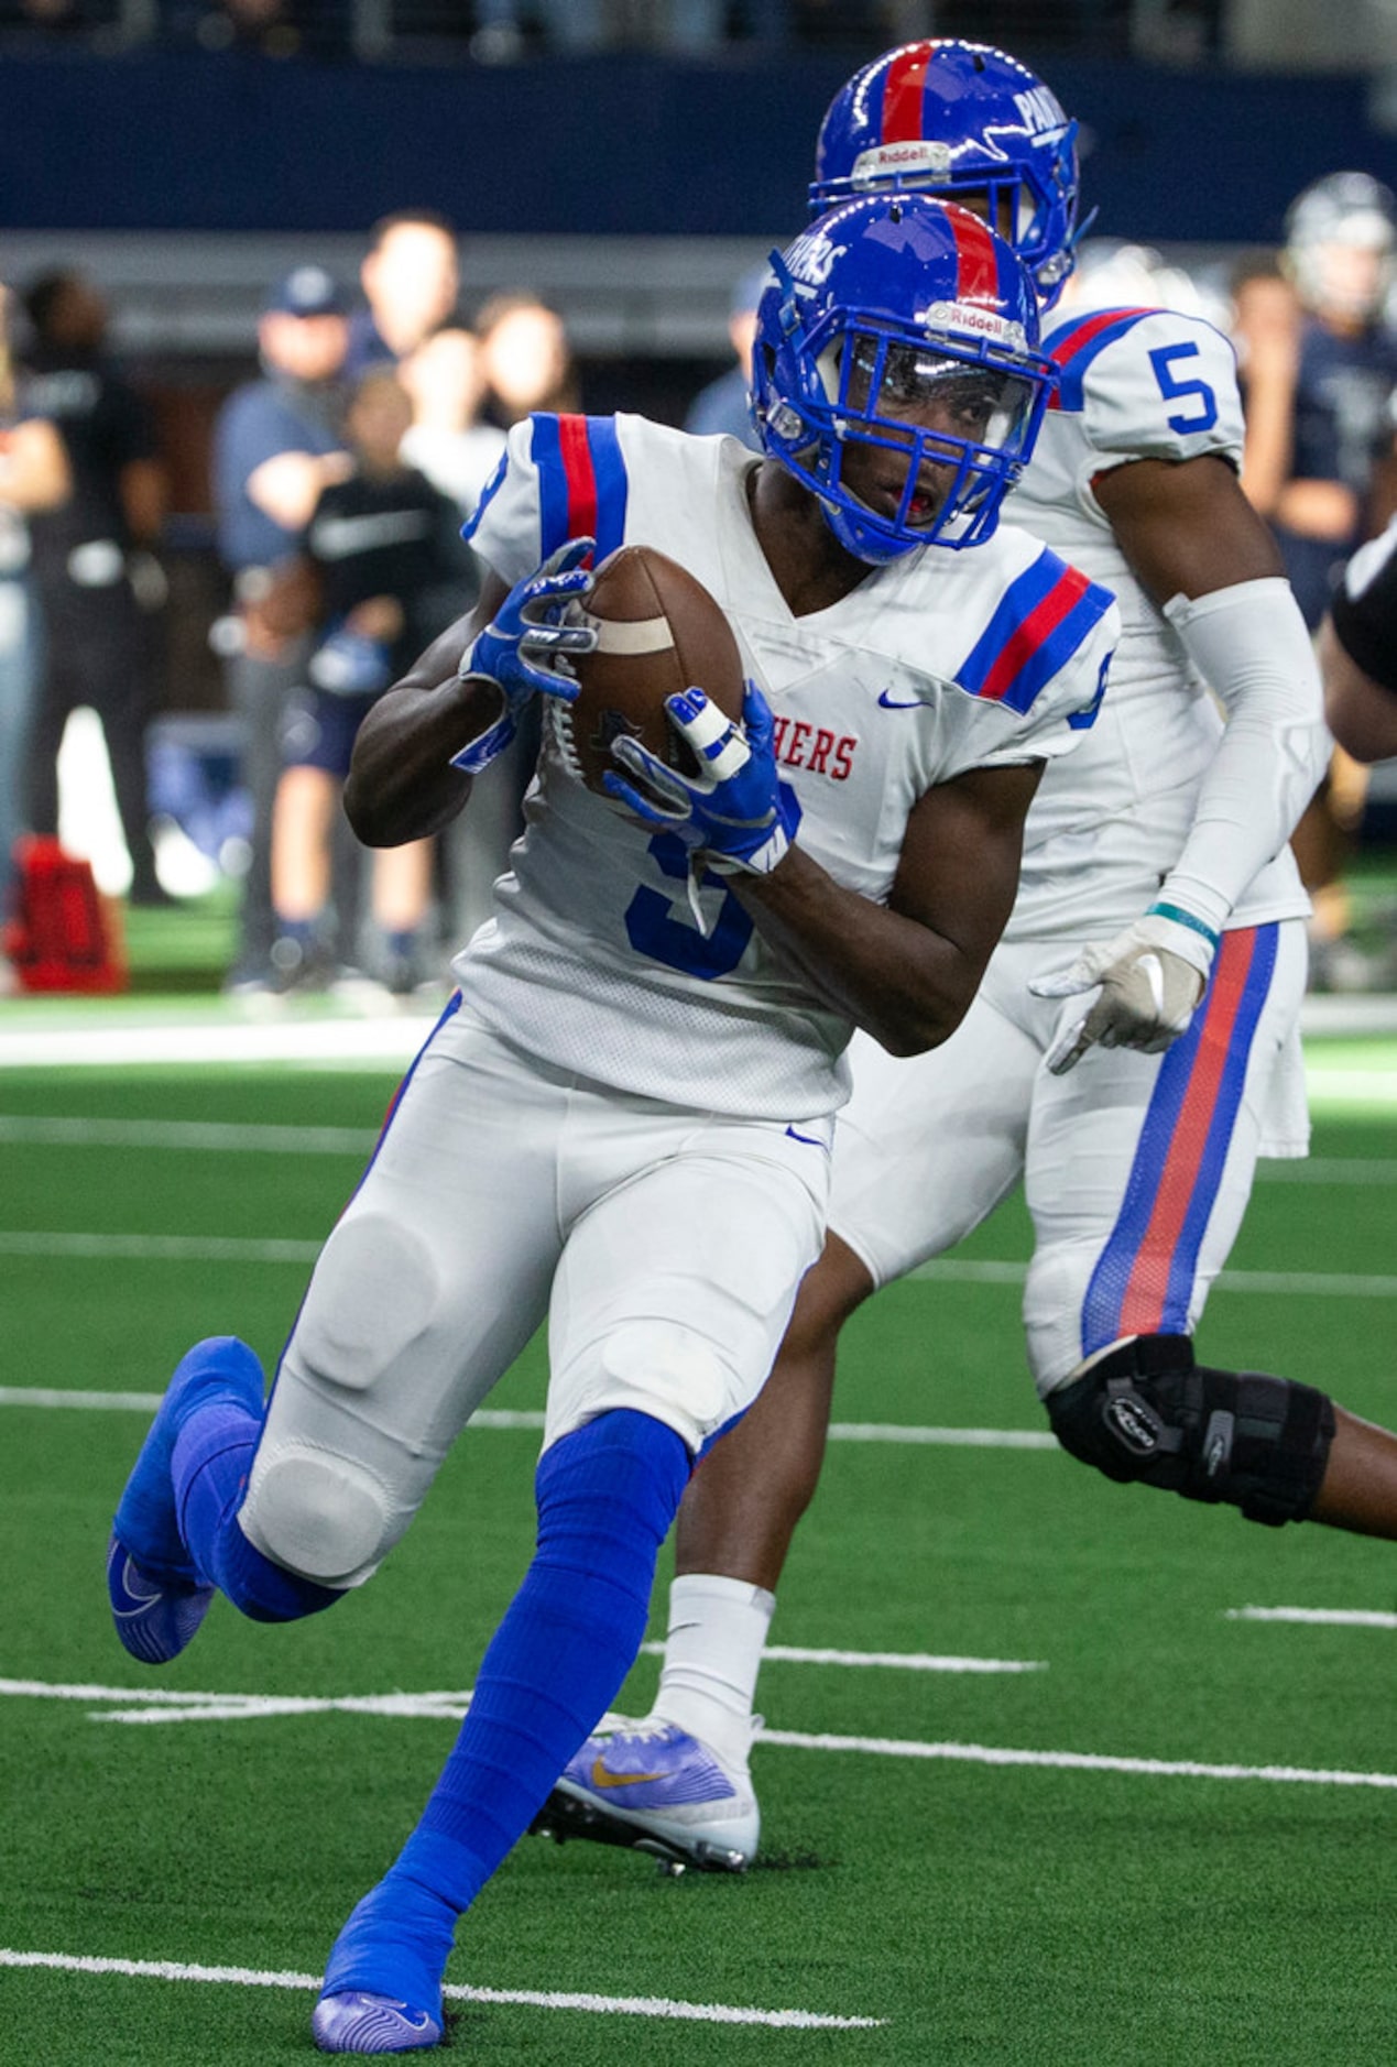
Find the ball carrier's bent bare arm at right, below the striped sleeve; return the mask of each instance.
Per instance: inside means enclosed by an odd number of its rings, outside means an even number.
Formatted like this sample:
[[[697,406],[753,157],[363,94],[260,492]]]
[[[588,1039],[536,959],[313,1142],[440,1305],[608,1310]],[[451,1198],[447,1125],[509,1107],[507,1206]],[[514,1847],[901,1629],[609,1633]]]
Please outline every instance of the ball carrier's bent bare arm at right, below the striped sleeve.
[[[946,1040],[980,988],[1019,889],[1042,761],[969,769],[907,819],[887,905],[841,889],[796,845],[767,876],[732,876],[763,936],[889,1054]]]

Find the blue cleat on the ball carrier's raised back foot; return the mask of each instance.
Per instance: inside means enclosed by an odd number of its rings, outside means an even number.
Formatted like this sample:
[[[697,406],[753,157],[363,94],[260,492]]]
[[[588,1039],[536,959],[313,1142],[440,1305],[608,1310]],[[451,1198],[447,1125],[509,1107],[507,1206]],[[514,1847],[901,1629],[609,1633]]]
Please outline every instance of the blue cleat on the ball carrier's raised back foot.
[[[107,1544],[112,1621],[130,1656],[147,1666],[180,1656],[215,1594],[180,1536],[172,1478],[180,1428],[211,1399],[262,1412],[262,1366],[236,1335],[196,1341],[180,1360],[116,1509]]]

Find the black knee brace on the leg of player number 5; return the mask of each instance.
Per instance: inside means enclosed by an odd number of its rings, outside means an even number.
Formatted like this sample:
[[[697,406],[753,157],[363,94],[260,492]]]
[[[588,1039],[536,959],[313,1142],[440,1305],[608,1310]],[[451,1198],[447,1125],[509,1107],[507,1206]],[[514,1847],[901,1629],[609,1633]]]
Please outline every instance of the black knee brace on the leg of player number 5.
[[[1188,1335],[1137,1335],[1044,1401],[1073,1457],[1186,1501],[1228,1501],[1248,1521],[1304,1521],[1333,1443],[1312,1385],[1194,1364]]]

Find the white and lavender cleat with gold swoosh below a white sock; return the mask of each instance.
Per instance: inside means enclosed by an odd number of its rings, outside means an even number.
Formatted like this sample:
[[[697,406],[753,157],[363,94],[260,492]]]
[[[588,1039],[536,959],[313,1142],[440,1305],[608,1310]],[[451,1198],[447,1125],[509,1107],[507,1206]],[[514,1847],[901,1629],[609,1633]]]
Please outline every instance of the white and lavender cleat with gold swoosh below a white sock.
[[[589,1736],[529,1825],[649,1852],[674,1869],[742,1873],[756,1856],[760,1811],[746,1773],[678,1724]]]

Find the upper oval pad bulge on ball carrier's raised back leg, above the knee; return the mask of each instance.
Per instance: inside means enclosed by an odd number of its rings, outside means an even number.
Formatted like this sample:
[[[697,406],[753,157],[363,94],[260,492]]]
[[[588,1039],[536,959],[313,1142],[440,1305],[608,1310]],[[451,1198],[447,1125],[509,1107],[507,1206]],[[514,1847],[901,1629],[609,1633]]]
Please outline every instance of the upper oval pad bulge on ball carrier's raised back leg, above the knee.
[[[362,1393],[422,1335],[436,1263],[411,1228],[358,1213],[331,1236],[287,1356],[312,1379]]]

